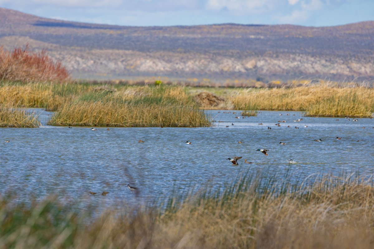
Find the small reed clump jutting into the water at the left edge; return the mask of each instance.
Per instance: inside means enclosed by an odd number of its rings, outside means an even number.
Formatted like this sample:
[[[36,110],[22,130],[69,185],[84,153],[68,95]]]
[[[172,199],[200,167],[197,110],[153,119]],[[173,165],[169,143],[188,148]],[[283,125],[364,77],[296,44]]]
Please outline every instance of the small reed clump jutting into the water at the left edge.
[[[37,116],[14,106],[0,105],[0,127],[28,127],[40,126]]]

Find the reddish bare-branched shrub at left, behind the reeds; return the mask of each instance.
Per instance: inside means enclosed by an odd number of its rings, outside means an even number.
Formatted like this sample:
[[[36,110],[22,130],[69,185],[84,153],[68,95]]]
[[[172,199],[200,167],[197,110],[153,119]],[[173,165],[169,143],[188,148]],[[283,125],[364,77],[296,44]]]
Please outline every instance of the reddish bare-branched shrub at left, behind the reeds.
[[[70,78],[61,62],[54,62],[45,50],[31,52],[16,48],[12,53],[0,47],[0,80],[65,81]]]

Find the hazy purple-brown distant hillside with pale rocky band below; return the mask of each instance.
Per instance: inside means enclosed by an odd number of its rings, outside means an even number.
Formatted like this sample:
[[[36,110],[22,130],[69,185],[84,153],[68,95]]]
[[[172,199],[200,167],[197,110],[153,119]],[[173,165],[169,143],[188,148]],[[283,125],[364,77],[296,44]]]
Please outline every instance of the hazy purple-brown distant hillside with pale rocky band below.
[[[335,27],[128,27],[60,21],[0,8],[0,45],[29,44],[76,78],[374,80],[374,21]]]

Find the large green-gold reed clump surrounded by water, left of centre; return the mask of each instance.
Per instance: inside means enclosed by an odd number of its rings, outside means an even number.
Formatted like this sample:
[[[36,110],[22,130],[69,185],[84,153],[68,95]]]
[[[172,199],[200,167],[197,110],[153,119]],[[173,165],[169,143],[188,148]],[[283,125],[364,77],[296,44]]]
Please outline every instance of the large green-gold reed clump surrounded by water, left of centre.
[[[210,122],[183,87],[126,87],[65,103],[50,125],[204,127]]]

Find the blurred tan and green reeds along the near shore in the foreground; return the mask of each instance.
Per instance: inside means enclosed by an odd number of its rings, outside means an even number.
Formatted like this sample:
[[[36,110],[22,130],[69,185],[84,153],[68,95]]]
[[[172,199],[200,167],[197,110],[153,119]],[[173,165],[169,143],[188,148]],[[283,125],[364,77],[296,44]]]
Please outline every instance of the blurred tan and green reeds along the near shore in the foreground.
[[[162,205],[162,204],[161,204]],[[69,203],[0,201],[3,248],[373,248],[374,188],[324,177],[243,179],[221,192],[169,197],[166,208],[89,217]]]

